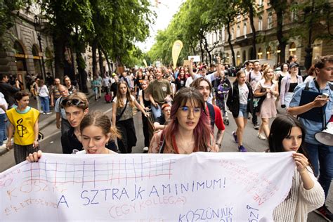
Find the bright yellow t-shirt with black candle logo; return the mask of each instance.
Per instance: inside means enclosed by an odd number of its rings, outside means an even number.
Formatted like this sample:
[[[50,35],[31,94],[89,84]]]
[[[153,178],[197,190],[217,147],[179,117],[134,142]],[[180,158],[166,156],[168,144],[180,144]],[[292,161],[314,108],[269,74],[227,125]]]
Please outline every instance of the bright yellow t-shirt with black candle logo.
[[[30,145],[34,143],[34,124],[38,121],[39,111],[28,107],[25,113],[19,113],[15,107],[7,110],[8,120],[14,126],[14,143],[18,145]]]

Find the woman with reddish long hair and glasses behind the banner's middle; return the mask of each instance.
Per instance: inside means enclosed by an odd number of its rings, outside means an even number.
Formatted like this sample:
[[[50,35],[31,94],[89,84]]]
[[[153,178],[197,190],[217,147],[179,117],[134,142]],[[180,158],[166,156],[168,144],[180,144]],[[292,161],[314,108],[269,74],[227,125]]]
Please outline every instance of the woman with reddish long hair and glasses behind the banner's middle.
[[[192,88],[182,88],[171,105],[169,124],[153,136],[149,152],[190,154],[199,151],[218,152],[218,148],[202,94]]]

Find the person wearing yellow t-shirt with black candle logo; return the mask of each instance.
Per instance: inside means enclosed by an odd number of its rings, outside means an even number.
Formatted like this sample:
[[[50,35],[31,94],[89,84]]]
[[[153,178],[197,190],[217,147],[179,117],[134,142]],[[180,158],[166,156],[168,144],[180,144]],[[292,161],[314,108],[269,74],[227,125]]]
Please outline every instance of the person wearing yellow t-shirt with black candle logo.
[[[6,112],[9,122],[11,122],[8,127],[6,148],[8,150],[12,148],[11,138],[14,136],[14,158],[16,164],[19,164],[25,161],[25,157],[29,153],[39,150],[39,111],[28,106],[28,92],[19,91],[15,93],[14,98],[18,106]]]

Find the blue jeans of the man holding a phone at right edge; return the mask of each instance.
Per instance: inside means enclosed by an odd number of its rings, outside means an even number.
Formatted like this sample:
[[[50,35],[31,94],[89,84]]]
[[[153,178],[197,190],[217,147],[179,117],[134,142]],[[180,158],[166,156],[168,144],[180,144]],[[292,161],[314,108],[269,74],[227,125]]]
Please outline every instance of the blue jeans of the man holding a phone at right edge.
[[[333,178],[333,146],[305,143],[305,148],[313,173],[315,176],[319,174],[318,182],[322,185],[326,198]]]

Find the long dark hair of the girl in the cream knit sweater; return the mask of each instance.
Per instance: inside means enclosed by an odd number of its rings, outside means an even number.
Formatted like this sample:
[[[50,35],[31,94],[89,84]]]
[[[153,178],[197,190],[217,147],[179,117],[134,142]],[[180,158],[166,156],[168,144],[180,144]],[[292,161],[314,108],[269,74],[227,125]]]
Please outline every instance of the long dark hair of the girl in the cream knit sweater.
[[[268,136],[269,152],[285,152],[282,141],[290,135],[290,131],[292,131],[292,127],[294,126],[299,127],[302,132],[302,143],[298,152],[307,157],[303,148],[306,131],[303,124],[291,115],[283,115],[274,119],[272,126],[270,126],[270,134]]]

